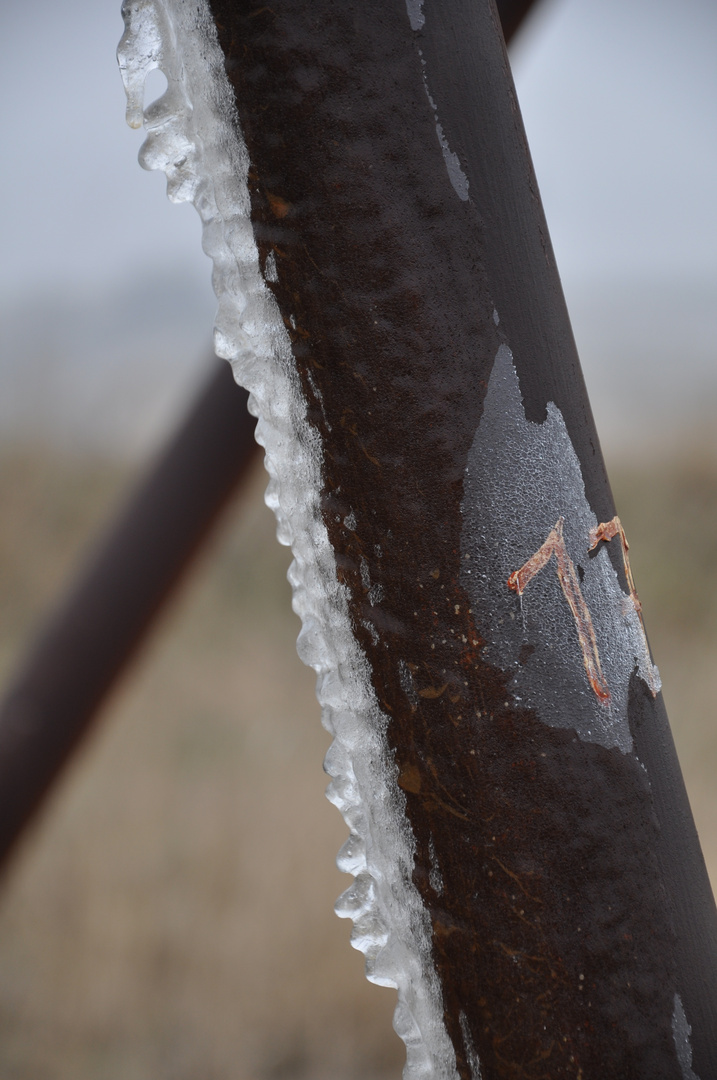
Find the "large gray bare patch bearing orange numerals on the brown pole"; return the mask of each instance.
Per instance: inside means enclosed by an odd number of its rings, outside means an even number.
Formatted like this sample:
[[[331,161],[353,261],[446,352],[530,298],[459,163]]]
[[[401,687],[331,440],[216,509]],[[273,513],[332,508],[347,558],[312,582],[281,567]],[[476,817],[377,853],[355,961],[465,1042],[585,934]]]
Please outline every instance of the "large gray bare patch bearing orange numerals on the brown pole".
[[[506,346],[496,355],[463,492],[461,581],[485,659],[509,673],[514,700],[543,723],[632,751],[631,675],[654,693],[659,674],[636,602],[605,543],[595,543],[598,522],[563,415],[551,402],[544,423],[526,419]]]

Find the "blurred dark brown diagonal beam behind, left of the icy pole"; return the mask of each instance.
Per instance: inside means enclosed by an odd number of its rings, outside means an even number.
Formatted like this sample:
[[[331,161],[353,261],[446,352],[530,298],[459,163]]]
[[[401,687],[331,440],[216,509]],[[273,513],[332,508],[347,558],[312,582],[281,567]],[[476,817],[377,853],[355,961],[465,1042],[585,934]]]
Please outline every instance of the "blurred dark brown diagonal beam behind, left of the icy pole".
[[[0,705],[0,863],[258,458],[246,391],[213,369],[25,657]]]

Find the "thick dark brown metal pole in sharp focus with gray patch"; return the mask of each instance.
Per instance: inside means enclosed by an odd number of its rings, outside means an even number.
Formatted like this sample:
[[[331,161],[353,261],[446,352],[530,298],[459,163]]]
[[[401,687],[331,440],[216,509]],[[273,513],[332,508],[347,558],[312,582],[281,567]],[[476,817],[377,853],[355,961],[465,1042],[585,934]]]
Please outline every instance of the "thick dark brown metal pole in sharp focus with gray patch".
[[[714,901],[496,8],[209,6],[458,1071],[717,1077]]]

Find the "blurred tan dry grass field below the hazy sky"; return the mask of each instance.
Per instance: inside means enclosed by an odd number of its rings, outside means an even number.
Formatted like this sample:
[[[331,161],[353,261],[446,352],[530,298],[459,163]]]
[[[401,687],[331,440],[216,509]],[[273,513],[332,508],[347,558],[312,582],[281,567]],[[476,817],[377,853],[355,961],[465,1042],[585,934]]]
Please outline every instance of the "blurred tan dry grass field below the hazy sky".
[[[717,459],[612,473],[715,880]],[[0,455],[3,677],[130,482]],[[263,486],[227,515],[6,877],[0,1080],[400,1076],[393,993],[365,982],[332,912],[346,829]]]

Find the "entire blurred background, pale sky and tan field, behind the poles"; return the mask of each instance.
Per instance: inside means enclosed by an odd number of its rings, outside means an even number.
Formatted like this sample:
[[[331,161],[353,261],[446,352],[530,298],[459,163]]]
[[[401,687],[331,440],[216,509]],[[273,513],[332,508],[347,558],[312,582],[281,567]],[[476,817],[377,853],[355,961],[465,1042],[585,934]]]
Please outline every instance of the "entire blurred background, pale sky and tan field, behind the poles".
[[[0,29],[4,683],[202,379],[214,300],[193,211],[166,203],[123,126],[119,3],[8,0]],[[716,39],[708,0],[544,0],[514,51],[713,882]],[[393,994],[365,982],[332,912],[346,828],[265,483],[3,882],[1,1080],[400,1075]]]

